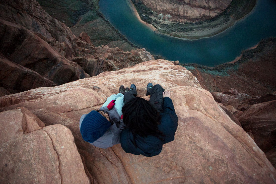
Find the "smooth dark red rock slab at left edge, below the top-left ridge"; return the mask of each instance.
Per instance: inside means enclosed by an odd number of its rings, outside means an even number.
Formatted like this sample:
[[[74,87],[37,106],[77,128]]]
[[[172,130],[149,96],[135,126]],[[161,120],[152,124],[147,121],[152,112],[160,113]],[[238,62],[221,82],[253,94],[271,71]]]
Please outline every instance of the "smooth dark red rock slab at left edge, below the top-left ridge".
[[[74,62],[68,61],[48,43],[20,25],[0,20],[0,51],[7,59],[25,66],[60,85],[89,77]]]

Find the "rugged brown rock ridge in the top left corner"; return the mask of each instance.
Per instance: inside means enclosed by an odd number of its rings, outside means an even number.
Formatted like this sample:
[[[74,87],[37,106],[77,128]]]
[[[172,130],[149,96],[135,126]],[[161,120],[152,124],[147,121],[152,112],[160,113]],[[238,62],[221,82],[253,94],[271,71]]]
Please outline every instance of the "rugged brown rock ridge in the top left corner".
[[[40,33],[47,39],[63,43],[66,58],[76,54],[75,37],[64,23],[52,18],[35,0],[4,0],[0,6],[0,18],[22,25],[31,32]],[[57,43],[53,43],[53,46]]]

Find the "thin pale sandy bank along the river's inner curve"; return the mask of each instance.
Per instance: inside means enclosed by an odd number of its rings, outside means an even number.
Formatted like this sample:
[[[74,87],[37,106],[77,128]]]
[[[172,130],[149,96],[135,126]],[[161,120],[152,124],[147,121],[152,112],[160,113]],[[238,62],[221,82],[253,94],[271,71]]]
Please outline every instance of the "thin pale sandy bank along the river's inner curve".
[[[253,12],[253,9],[250,11],[250,13],[247,13],[245,16],[241,17],[240,19],[238,20],[230,20],[228,22],[224,22],[223,24],[221,24],[221,22],[218,22],[216,24],[216,27],[214,28],[203,28],[202,30],[193,30],[193,31],[188,31],[188,32],[185,32],[185,35],[170,35],[168,33],[165,33],[165,32],[162,32],[162,30],[158,30],[156,29],[153,25],[149,24],[149,23],[146,23],[144,22],[140,16],[139,16],[139,13],[138,11],[136,10],[134,4],[132,3],[131,0],[128,0],[129,2],[129,6],[132,10],[132,12],[134,13],[134,15],[137,17],[137,19],[139,20],[139,22],[143,23],[144,25],[146,25],[148,28],[150,28],[152,31],[155,31],[156,33],[159,33],[161,35],[166,35],[166,36],[171,36],[171,37],[174,37],[174,38],[178,38],[178,39],[182,39],[182,40],[198,40],[198,39],[201,39],[201,38],[208,38],[208,37],[212,37],[212,36],[215,36],[219,33],[222,33],[224,31],[226,31],[228,28],[232,27],[233,25],[235,25],[235,23],[241,19],[244,19],[247,15],[249,15],[251,12]]]

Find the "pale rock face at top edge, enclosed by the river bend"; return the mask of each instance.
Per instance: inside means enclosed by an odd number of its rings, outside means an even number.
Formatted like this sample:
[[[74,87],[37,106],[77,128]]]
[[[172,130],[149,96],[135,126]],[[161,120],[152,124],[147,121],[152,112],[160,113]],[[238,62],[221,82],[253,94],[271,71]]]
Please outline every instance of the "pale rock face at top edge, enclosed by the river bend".
[[[232,0],[141,0],[141,2],[157,12],[171,15],[170,20],[204,20],[221,14]]]

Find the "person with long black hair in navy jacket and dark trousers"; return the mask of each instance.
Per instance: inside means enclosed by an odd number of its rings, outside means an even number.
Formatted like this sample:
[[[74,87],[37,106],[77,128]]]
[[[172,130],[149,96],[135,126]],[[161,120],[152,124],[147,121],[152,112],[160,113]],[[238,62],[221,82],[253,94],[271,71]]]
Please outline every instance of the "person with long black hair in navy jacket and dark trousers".
[[[178,117],[170,98],[170,91],[164,92],[160,85],[147,85],[150,100],[136,97],[136,86],[124,94],[123,122],[126,128],[121,132],[120,142],[126,153],[158,155],[165,143],[174,140]]]

